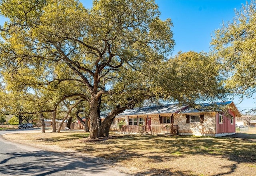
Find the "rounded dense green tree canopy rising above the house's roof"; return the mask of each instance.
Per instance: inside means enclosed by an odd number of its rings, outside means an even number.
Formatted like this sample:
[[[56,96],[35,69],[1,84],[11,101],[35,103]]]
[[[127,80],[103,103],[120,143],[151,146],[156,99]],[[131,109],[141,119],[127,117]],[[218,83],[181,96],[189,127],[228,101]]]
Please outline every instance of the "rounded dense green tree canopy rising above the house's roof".
[[[219,75],[219,65],[207,53],[178,53],[157,68],[155,82],[166,100],[182,104],[224,100],[228,92]]]

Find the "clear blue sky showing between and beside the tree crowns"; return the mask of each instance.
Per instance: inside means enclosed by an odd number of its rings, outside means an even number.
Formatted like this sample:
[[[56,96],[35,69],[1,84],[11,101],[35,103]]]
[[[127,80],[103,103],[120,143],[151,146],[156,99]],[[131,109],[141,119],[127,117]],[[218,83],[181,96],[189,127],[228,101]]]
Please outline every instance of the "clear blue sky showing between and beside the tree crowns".
[[[86,8],[92,7],[92,0],[80,0]],[[232,20],[235,16],[234,9],[240,10],[245,0],[156,0],[162,13],[160,18],[171,18],[174,27],[173,55],[178,51],[205,51],[210,50],[210,41],[215,29],[220,28],[221,23]],[[0,25],[4,22],[0,18]],[[231,99],[232,100],[232,99]],[[254,108],[255,99],[250,98],[240,103],[238,98],[234,103],[239,110]],[[239,104],[240,103],[240,104]]]

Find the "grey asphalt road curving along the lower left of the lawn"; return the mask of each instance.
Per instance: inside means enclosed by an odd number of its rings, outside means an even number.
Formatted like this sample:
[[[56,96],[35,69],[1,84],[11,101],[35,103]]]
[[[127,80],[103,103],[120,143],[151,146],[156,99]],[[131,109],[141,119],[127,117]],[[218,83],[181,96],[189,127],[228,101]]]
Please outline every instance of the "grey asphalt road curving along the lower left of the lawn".
[[[24,130],[18,132],[27,132]],[[10,132],[13,130],[0,131],[0,135]],[[127,176],[99,162],[93,157],[74,157],[12,143],[0,136],[0,176]]]

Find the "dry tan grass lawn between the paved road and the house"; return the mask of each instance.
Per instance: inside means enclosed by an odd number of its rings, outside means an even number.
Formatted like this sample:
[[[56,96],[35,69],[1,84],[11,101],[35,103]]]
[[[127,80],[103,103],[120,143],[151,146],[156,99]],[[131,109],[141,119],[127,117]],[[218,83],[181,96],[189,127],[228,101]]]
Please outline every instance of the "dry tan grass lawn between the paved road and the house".
[[[74,150],[125,166],[134,175],[254,175],[256,139],[111,134],[85,141],[88,133],[30,133],[5,137],[42,148]],[[54,147],[52,147],[54,146]]]

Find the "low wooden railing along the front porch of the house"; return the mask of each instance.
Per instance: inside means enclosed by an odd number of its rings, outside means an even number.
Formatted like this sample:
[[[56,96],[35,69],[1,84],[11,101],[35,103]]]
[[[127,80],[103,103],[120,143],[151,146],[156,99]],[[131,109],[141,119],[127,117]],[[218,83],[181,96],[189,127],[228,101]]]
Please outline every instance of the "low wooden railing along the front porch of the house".
[[[177,134],[178,125],[123,125],[122,132]]]

